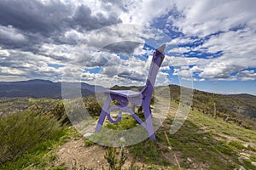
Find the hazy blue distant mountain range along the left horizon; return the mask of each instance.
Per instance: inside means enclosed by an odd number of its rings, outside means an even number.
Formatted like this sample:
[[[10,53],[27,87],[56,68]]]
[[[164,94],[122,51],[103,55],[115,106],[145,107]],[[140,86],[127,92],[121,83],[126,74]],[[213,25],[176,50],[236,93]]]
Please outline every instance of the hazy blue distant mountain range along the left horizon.
[[[80,82],[66,82],[68,85],[76,85]],[[83,96],[95,94],[95,89],[104,90],[100,86],[81,82]],[[20,82],[0,82],[1,97],[30,97],[30,98],[53,98],[61,99],[61,82],[48,80],[29,80]]]

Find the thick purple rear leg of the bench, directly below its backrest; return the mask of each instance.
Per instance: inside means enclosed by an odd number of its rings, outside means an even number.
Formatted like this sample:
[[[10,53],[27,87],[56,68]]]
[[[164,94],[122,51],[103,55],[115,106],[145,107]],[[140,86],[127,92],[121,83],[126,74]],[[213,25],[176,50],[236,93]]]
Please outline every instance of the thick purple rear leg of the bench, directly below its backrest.
[[[151,114],[150,106],[143,106],[143,111],[144,111],[144,116],[146,120],[148,136],[150,139],[156,140],[154,136],[154,127],[152,124],[152,114]]]

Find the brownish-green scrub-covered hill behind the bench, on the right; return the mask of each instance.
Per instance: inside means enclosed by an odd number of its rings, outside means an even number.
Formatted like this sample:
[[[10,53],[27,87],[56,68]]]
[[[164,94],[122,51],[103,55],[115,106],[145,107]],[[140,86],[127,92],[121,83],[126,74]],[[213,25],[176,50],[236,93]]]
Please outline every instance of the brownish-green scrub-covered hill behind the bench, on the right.
[[[113,89],[138,89],[142,87],[120,87]],[[155,87],[161,97],[171,99],[176,103],[180,101],[180,90],[191,90],[177,85]],[[170,93],[166,93],[166,92]],[[171,94],[169,97],[168,95]],[[193,90],[192,110],[198,110],[208,116],[214,116],[214,103],[216,115],[226,122],[234,122],[238,125],[256,129],[256,96],[251,94],[213,94],[200,90]]]

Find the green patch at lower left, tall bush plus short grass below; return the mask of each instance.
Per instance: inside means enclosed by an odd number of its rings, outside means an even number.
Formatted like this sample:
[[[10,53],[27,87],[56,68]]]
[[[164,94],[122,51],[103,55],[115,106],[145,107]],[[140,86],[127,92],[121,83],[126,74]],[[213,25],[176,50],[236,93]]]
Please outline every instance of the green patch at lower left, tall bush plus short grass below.
[[[0,119],[0,169],[44,169],[55,148],[78,133],[50,114],[24,111]]]

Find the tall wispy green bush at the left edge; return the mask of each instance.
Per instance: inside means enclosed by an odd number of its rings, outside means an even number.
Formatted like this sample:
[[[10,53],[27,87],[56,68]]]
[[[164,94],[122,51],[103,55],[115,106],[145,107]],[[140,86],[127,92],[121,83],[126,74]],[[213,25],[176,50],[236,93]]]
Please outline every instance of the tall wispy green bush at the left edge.
[[[41,141],[54,139],[62,127],[54,117],[22,112],[0,120],[0,165],[15,161]]]

